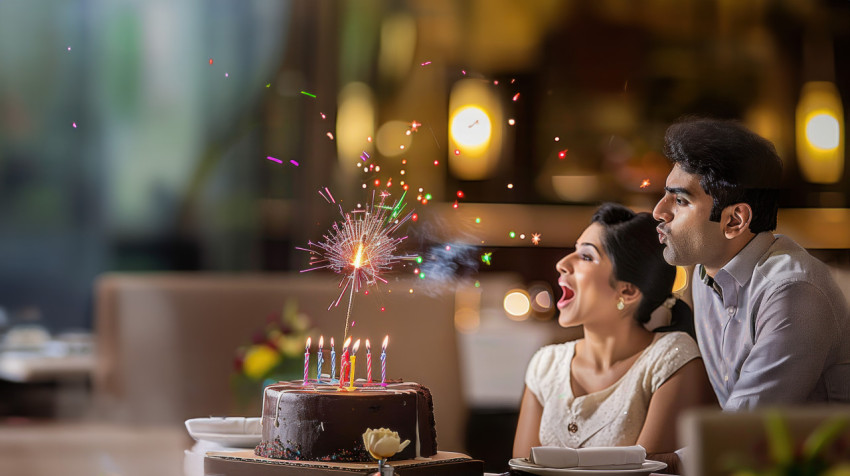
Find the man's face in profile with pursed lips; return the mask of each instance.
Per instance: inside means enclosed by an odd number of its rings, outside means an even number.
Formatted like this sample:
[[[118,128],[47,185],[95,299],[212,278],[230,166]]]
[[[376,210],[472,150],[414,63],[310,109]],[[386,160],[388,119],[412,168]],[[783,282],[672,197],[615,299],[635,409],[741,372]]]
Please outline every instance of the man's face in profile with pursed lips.
[[[667,176],[664,197],[655,205],[652,216],[661,222],[658,239],[665,245],[668,263],[719,268],[724,264],[725,238],[720,223],[709,221],[713,202],[699,178],[674,166]]]

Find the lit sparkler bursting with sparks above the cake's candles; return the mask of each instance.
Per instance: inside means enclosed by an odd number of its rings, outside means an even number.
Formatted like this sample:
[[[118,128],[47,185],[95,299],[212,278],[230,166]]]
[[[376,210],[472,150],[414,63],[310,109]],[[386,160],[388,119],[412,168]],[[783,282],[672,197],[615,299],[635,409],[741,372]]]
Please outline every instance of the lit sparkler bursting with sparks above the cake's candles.
[[[328,201],[336,203],[330,191],[325,188],[319,194]],[[363,208],[344,213],[339,207],[342,220],[335,222],[323,240],[308,242],[308,248],[296,249],[310,253],[311,268],[301,270],[302,273],[317,269],[330,269],[341,275],[339,288],[341,291],[335,301],[331,301],[328,309],[338,306],[346,290],[349,291],[348,311],[345,316],[345,334],[348,337],[348,322],[351,318],[351,306],[354,294],[361,288],[376,285],[378,281],[386,283],[382,274],[389,271],[394,264],[401,260],[416,259],[415,255],[397,255],[396,249],[407,236],[394,236],[398,229],[408,221],[413,212],[403,214],[406,205],[403,193],[401,198],[391,206],[386,205],[389,193],[381,193],[380,201],[375,203],[375,192],[372,192],[371,203]]]

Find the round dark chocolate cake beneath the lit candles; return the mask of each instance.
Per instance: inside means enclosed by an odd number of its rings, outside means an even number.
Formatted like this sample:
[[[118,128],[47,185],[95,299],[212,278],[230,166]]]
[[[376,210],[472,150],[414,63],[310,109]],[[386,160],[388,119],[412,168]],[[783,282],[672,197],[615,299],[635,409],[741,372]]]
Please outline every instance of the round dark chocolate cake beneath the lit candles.
[[[389,428],[410,444],[393,460],[437,453],[431,392],[412,382],[354,388],[301,380],[269,385],[263,393],[263,440],[255,453],[267,458],[374,461],[363,447],[367,428]]]

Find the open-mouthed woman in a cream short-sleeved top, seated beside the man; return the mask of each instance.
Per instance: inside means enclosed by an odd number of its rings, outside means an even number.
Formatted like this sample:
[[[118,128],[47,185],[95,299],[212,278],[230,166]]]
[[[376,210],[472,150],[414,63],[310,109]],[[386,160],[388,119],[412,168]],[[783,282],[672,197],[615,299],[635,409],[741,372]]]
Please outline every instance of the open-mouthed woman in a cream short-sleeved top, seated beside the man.
[[[514,457],[534,446],[639,444],[648,454],[671,453],[682,411],[714,401],[696,342],[645,327],[671,311],[674,326],[665,330],[693,322],[671,295],[676,270],[664,261],[655,225],[649,213],[605,204],[555,266],[558,323],[583,325],[584,338],[531,359]]]

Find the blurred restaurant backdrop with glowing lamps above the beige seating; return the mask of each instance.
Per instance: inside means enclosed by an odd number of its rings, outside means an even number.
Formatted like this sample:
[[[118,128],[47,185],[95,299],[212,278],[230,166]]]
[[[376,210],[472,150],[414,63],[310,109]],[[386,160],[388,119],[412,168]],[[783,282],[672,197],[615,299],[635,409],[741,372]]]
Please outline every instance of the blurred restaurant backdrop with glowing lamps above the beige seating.
[[[654,206],[684,115],[773,141],[779,232],[847,267],[848,95],[846,0],[3,0],[0,332],[87,342],[106,272],[297,272],[406,192],[400,273],[510,273],[533,350],[555,262],[599,203]]]

